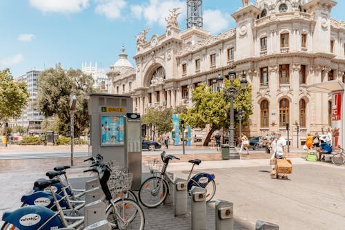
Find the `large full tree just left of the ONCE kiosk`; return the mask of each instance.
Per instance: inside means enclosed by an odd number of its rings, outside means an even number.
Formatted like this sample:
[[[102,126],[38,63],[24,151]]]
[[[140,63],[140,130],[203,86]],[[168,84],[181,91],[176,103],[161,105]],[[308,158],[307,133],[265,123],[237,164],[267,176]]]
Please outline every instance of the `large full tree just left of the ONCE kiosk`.
[[[93,79],[81,70],[70,68],[67,72],[61,67],[44,70],[38,77],[39,94],[37,102],[39,110],[50,117],[56,115],[59,119],[57,126],[59,133],[66,134],[70,131],[70,95],[77,97],[75,111],[75,136],[88,128],[88,99],[86,95],[94,92]]]

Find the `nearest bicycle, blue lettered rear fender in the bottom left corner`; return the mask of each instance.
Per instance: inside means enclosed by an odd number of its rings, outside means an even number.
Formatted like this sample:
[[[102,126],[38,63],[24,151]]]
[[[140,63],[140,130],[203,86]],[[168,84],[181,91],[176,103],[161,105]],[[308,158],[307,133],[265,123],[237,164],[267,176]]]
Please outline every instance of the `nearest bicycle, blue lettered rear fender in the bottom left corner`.
[[[144,211],[141,209],[139,204],[126,198],[112,200],[112,195],[107,184],[111,176],[110,169],[105,165],[100,165],[84,172],[87,171],[93,171],[98,174],[99,183],[101,184],[103,193],[106,195],[106,200],[109,203],[106,208],[106,218],[110,225],[119,229],[128,229],[128,227],[132,229],[144,229]],[[52,184],[56,184],[57,182],[59,182],[58,179],[51,179],[41,180],[37,183],[37,185],[42,188],[50,187],[50,192],[52,193],[57,206],[57,212],[53,212],[46,207],[36,205],[21,207],[15,211],[6,211],[2,218],[5,224],[3,224],[1,230],[51,230],[63,227],[83,229],[83,216],[70,217],[63,213],[63,209],[61,209],[59,205],[59,200],[57,200],[51,187]],[[130,212],[128,213],[127,211]],[[68,220],[72,221],[72,224],[68,224]]]

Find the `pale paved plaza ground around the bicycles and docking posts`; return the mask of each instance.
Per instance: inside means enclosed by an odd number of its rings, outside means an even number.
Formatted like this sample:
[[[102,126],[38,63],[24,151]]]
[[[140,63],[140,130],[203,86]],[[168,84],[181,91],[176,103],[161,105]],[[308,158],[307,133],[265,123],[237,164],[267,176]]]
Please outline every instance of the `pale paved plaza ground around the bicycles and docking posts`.
[[[255,229],[257,220],[273,222],[283,230],[344,229],[345,166],[306,162],[300,155],[291,154],[290,180],[270,178],[268,159],[260,159],[268,157],[264,153],[244,156],[244,160],[219,160],[219,153],[180,155],[181,161],[169,164],[168,171],[187,178],[188,159],[199,156],[203,162],[195,167],[195,173],[215,173],[215,199],[234,203],[235,229]],[[145,155],[143,162],[157,157]],[[83,159],[75,158],[75,166],[69,170],[71,178],[88,176],[82,173],[88,166]],[[31,189],[34,180],[45,177],[45,172],[58,164],[70,164],[70,159],[1,160],[0,212],[19,207],[21,195]],[[147,166],[144,172],[148,172]],[[144,211],[146,229],[190,229],[190,216],[175,218],[171,206]],[[207,215],[208,229],[215,229],[214,202],[208,204]]]

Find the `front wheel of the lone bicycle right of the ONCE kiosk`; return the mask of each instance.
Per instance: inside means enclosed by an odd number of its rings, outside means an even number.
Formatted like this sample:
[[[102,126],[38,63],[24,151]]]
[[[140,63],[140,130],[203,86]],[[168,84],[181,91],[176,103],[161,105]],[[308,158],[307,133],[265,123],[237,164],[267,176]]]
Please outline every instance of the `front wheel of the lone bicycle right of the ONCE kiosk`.
[[[155,208],[168,195],[168,183],[161,178],[148,178],[139,189],[139,200],[147,208]]]

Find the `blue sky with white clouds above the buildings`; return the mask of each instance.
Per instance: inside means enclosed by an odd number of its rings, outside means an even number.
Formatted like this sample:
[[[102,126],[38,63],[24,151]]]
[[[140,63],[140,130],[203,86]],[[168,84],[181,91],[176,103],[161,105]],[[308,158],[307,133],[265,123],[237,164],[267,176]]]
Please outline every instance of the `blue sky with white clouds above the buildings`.
[[[254,3],[253,0],[251,0]],[[213,34],[235,26],[230,16],[240,0],[204,0],[204,28]],[[147,39],[165,32],[168,10],[181,7],[186,29],[186,1],[179,0],[0,0],[0,69],[14,77],[32,68],[81,68],[82,62],[105,68],[118,59],[124,44],[134,64],[135,37],[151,28]],[[345,1],[332,17],[344,20]]]

